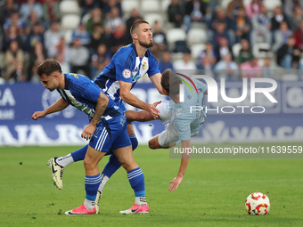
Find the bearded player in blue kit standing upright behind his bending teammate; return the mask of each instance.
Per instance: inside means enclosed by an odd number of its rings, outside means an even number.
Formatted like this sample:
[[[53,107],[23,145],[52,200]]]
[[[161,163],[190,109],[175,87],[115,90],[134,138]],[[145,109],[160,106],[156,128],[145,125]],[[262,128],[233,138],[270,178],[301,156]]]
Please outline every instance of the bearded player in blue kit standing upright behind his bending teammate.
[[[94,79],[94,84],[98,85],[103,93],[111,97],[120,109],[126,110],[123,103],[123,101],[125,101],[139,109],[145,109],[153,118],[158,118],[159,109],[156,109],[155,106],[160,103],[160,101],[151,105],[139,100],[133,93],[130,93],[130,90],[137,80],[147,73],[159,93],[164,94],[160,85],[161,74],[159,64],[148,49],[153,45],[151,26],[148,22],[139,20],[133,24],[130,33],[133,37],[133,43],[120,48],[119,51],[115,53],[110,64],[102,70],[99,77]],[[138,141],[135,137],[135,130],[132,124],[127,124],[127,133],[132,142],[132,148],[135,150]],[[64,168],[71,163],[84,160],[86,150],[87,148],[83,147],[66,156],[51,158],[49,160],[48,164],[52,170],[53,182],[58,189],[61,190],[63,186],[62,174]],[[99,211],[98,201],[102,196],[101,191],[111,175],[114,174],[120,166],[118,158],[114,154],[111,154],[109,162],[102,170],[101,184],[96,199],[97,213]],[[130,208],[129,210],[132,209]]]

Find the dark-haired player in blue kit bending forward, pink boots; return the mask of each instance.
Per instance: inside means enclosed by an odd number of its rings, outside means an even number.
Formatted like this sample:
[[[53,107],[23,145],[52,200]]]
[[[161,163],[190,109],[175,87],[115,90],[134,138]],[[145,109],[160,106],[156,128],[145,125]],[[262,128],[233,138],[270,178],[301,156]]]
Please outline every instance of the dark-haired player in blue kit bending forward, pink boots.
[[[123,109],[102,92],[88,77],[78,74],[63,74],[57,61],[46,60],[37,67],[37,74],[44,87],[53,92],[55,89],[61,98],[43,111],[37,111],[32,118],[44,118],[53,112],[61,111],[69,105],[85,112],[89,118],[81,137],[89,140],[86,146],[84,166],[86,169],[86,199],[66,215],[97,214],[95,200],[101,182],[98,163],[110,150],[127,171],[127,178],[135,191],[134,212],[149,213],[145,199],[144,176],[135,163],[131,142],[127,135],[127,119]],[[55,170],[54,170],[55,171]],[[123,211],[127,214],[127,211]]]

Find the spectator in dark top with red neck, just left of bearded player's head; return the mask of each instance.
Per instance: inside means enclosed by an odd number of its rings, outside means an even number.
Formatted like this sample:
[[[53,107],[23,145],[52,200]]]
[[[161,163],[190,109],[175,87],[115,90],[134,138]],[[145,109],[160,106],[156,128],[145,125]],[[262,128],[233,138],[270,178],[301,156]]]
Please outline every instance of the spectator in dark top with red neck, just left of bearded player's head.
[[[111,33],[109,39],[109,46],[111,47],[111,53],[116,53],[120,47],[128,45],[127,43],[127,31],[125,25],[119,25]]]

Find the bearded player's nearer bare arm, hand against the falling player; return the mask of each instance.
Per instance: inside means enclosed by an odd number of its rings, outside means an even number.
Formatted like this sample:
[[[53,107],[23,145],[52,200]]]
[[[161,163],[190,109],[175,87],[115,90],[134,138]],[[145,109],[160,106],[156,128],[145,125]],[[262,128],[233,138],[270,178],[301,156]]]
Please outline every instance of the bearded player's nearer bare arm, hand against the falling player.
[[[153,104],[148,104],[144,101],[139,100],[133,93],[130,93],[132,87],[131,83],[119,80],[120,85],[120,96],[122,101],[127,102],[139,109],[145,109],[150,112],[153,118],[159,118],[159,109],[157,109]]]

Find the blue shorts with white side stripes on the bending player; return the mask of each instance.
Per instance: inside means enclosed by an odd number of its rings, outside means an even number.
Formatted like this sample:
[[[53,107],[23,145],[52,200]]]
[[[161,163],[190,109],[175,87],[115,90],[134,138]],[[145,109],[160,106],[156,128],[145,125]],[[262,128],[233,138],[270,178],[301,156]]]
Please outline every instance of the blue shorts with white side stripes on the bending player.
[[[94,150],[108,152],[124,148],[132,143],[127,134],[127,120],[125,115],[121,115],[110,120],[105,120],[97,124],[94,134],[89,142],[89,146]]]

